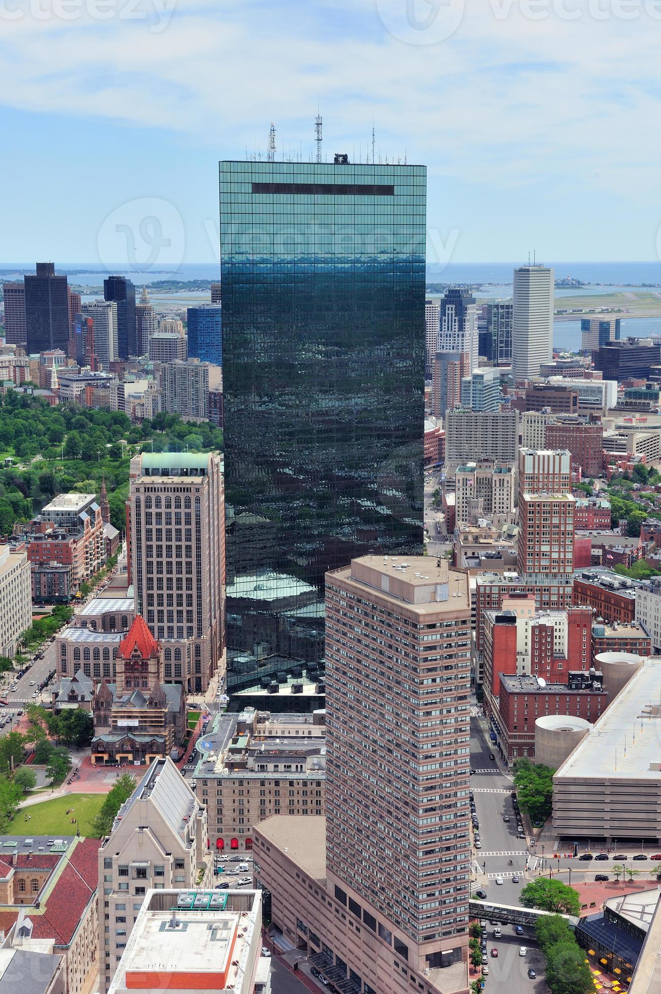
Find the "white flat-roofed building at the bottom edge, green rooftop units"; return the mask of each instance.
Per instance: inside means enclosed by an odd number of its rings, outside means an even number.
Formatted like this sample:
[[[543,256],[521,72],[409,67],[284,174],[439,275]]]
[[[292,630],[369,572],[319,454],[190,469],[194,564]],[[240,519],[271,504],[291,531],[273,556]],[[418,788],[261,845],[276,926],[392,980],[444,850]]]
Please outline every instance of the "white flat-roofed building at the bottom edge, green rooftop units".
[[[215,991],[269,994],[261,955],[261,892],[149,890],[111,994]]]

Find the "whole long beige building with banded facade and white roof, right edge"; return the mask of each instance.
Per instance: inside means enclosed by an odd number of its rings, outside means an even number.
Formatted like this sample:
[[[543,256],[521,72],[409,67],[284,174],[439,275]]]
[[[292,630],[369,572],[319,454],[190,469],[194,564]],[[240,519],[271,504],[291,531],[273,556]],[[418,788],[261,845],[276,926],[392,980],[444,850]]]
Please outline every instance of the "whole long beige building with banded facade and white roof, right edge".
[[[661,839],[661,661],[648,660],[554,776],[553,828],[564,838]]]

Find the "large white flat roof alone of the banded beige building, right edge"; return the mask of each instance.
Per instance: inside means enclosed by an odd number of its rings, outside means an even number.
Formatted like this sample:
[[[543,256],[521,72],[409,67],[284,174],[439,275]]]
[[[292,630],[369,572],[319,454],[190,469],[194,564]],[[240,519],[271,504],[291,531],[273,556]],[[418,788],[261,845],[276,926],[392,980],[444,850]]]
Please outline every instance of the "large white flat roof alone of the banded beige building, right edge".
[[[554,779],[661,777],[661,659],[649,659],[608,705]]]

